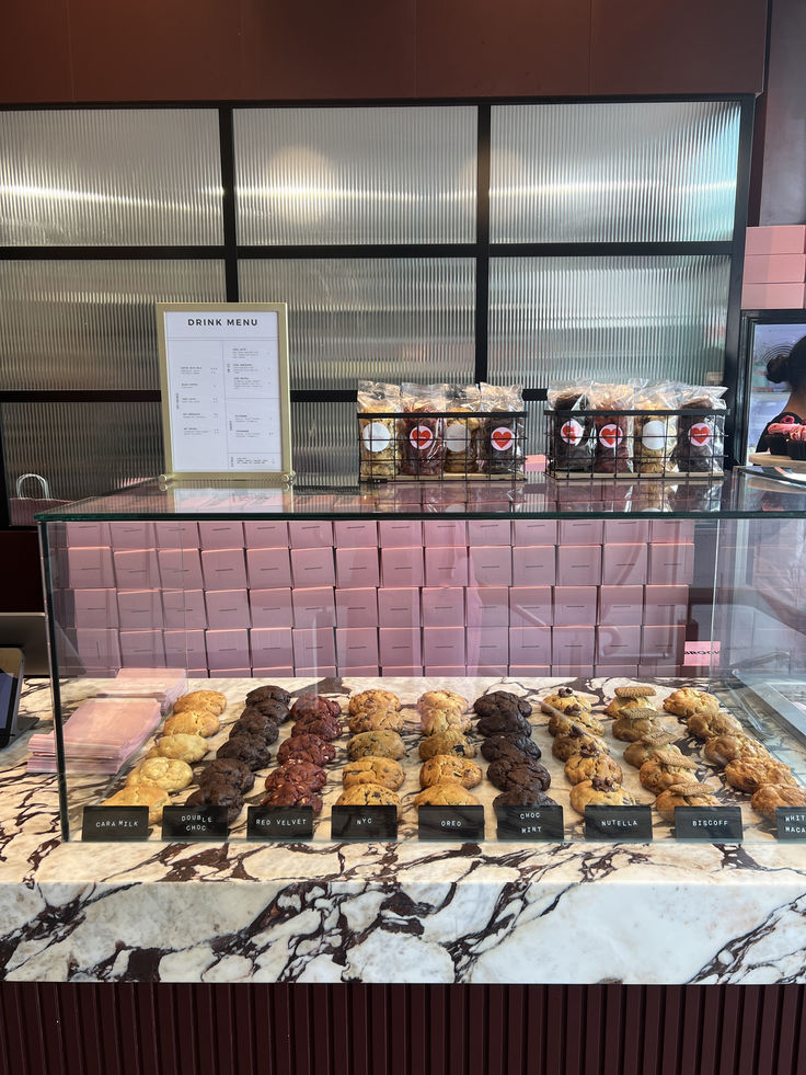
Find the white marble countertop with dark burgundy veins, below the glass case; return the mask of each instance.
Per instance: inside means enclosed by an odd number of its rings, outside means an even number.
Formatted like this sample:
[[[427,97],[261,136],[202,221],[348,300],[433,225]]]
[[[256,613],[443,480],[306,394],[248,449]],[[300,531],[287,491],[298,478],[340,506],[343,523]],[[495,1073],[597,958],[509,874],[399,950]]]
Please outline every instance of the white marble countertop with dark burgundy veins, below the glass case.
[[[806,981],[806,845],[62,844],[25,759],[0,755],[11,981]]]

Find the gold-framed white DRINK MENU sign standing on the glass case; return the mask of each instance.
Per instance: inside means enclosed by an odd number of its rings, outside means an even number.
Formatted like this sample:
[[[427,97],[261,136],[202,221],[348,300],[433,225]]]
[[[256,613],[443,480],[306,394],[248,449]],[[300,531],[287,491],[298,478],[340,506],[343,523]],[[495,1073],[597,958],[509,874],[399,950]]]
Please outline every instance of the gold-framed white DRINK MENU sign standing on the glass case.
[[[287,309],[157,305],[166,477],[292,477]]]

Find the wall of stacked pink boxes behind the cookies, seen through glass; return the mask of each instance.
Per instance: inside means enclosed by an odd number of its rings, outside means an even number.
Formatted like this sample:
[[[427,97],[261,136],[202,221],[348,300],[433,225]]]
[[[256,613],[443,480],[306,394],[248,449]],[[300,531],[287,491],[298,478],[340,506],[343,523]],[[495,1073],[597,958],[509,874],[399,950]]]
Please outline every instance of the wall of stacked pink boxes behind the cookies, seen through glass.
[[[660,519],[70,523],[65,617],[97,673],[671,675],[693,539]]]

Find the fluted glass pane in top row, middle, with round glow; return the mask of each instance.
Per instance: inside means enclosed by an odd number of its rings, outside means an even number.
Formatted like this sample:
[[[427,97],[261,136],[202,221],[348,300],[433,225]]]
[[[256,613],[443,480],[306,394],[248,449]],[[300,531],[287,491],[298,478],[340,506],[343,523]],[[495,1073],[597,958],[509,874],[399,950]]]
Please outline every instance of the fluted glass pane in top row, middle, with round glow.
[[[472,242],[476,110],[244,108],[238,241]]]

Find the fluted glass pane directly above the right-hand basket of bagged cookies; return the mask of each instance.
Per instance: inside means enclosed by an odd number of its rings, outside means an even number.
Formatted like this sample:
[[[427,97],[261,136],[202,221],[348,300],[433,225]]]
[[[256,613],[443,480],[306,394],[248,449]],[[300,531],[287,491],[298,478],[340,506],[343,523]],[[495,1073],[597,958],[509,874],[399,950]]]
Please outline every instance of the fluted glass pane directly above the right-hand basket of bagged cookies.
[[[702,384],[723,367],[729,270],[705,255],[494,258],[491,380]]]

